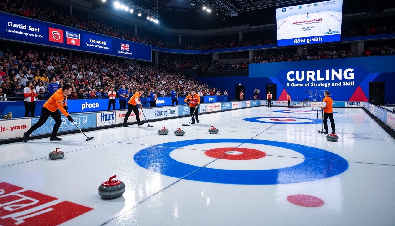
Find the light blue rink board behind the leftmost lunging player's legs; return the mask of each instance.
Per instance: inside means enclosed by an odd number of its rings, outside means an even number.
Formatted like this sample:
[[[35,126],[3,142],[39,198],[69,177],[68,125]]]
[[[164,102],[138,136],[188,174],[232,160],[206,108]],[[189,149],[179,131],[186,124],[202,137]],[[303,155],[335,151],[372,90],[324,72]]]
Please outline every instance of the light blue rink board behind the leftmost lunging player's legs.
[[[80,129],[96,127],[96,113],[71,114],[71,117],[73,118],[74,122],[77,123],[77,125]],[[38,122],[39,119],[40,118],[32,118],[31,125],[34,125],[36,122]],[[47,122],[45,122],[43,126],[36,129],[32,133],[32,135],[41,135],[41,134],[52,133],[54,125],[55,125],[55,120],[52,117],[49,117],[47,119]],[[58,132],[70,131],[70,130],[75,130],[75,129],[76,129],[76,127],[75,127],[74,123],[70,122],[64,115],[62,115],[62,123],[60,124],[60,128],[59,128]]]

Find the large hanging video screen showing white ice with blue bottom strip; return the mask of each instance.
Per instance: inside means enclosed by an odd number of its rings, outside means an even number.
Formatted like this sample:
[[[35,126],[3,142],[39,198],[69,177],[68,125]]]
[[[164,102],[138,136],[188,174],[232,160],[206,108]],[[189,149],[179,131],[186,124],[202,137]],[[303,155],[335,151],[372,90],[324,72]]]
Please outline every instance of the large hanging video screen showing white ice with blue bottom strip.
[[[342,0],[276,9],[278,46],[339,42]]]

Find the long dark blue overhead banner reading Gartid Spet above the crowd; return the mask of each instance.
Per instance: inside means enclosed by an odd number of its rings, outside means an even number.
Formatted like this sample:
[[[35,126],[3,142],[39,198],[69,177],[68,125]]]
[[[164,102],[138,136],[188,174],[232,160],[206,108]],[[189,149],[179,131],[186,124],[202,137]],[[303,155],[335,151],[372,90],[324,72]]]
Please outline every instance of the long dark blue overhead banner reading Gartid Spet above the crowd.
[[[1,38],[88,51],[117,57],[152,61],[151,46],[0,12]]]

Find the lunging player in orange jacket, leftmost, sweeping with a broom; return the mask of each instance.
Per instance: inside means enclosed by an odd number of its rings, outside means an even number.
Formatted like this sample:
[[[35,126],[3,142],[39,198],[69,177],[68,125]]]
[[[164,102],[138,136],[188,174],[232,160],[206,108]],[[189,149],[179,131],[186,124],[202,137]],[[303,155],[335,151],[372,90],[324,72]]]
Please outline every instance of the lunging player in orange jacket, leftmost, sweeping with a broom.
[[[33,133],[38,127],[44,125],[49,116],[51,116],[55,120],[55,125],[53,125],[53,131],[51,134],[50,141],[61,141],[62,138],[57,137],[57,133],[60,125],[62,124],[62,117],[60,116],[60,112],[67,117],[70,122],[74,122],[73,118],[71,118],[70,114],[67,112],[67,96],[71,94],[71,84],[64,84],[62,88],[58,89],[47,102],[41,108],[41,116],[38,122],[36,122],[30,129],[23,133],[23,142],[27,142],[30,134]],[[58,111],[60,110],[60,112]]]

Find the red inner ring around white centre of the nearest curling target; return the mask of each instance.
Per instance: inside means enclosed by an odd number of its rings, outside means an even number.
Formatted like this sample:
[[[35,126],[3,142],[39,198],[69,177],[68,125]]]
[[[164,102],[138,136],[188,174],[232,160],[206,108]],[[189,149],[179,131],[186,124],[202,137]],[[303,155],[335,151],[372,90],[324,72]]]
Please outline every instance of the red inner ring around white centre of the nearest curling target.
[[[226,152],[242,152],[241,154],[228,154]],[[224,160],[253,160],[266,156],[265,152],[250,148],[213,148],[204,152],[206,156]]]

